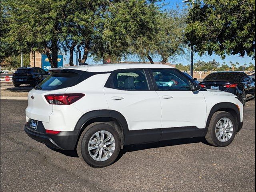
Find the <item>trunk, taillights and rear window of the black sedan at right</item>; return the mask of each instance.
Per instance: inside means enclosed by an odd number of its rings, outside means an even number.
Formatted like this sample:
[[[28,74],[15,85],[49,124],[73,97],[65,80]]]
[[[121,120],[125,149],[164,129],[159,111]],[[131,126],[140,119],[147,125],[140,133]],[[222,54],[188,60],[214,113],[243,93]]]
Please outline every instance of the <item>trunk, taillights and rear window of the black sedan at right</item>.
[[[228,91],[231,88],[236,87],[236,77],[238,72],[216,72],[209,74],[200,85],[202,88]]]

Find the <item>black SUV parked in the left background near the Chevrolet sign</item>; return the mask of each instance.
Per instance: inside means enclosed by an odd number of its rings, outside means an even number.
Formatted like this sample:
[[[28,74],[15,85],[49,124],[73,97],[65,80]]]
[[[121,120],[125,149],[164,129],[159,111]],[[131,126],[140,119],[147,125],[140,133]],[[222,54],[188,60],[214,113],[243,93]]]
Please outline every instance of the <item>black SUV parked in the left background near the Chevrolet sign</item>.
[[[21,84],[36,86],[49,75],[49,72],[46,72],[39,67],[18,68],[12,75],[12,82],[15,87],[18,87]]]

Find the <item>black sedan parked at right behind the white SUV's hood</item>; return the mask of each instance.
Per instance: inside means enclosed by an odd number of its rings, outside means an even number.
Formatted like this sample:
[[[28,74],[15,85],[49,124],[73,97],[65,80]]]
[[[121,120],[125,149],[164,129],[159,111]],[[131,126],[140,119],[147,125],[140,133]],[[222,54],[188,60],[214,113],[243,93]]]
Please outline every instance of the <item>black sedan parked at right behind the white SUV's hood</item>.
[[[255,79],[244,72],[216,72],[209,74],[200,83],[202,88],[222,90],[238,96],[245,106],[246,100],[255,99]]]

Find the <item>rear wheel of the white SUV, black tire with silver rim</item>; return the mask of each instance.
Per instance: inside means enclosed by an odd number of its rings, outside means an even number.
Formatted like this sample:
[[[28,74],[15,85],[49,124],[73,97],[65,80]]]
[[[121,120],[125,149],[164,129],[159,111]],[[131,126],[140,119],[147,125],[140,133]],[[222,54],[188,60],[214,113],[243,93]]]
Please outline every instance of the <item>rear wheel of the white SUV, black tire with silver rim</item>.
[[[103,134],[104,139],[102,139],[102,134],[101,134],[102,131],[104,131],[104,134]],[[111,141],[107,140],[110,134],[112,135],[112,137],[110,138]],[[105,145],[113,141],[114,143]],[[89,142],[90,142],[90,145],[89,145]],[[92,149],[89,150],[89,147]],[[106,148],[108,148],[108,150]],[[102,168],[102,167],[109,166],[116,160],[120,152],[120,148],[121,148],[121,140],[117,130],[114,127],[112,127],[110,124],[103,123],[103,122],[96,122],[96,123],[90,124],[82,132],[78,140],[76,150],[77,150],[78,156],[86,164],[94,168]]]

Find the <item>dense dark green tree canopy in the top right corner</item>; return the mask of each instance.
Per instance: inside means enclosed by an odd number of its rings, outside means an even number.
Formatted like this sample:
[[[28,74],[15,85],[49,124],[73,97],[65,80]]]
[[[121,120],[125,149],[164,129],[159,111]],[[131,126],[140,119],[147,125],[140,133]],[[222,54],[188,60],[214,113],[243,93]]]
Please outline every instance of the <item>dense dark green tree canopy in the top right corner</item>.
[[[255,1],[198,0],[189,10],[186,42],[202,56],[255,58]]]

